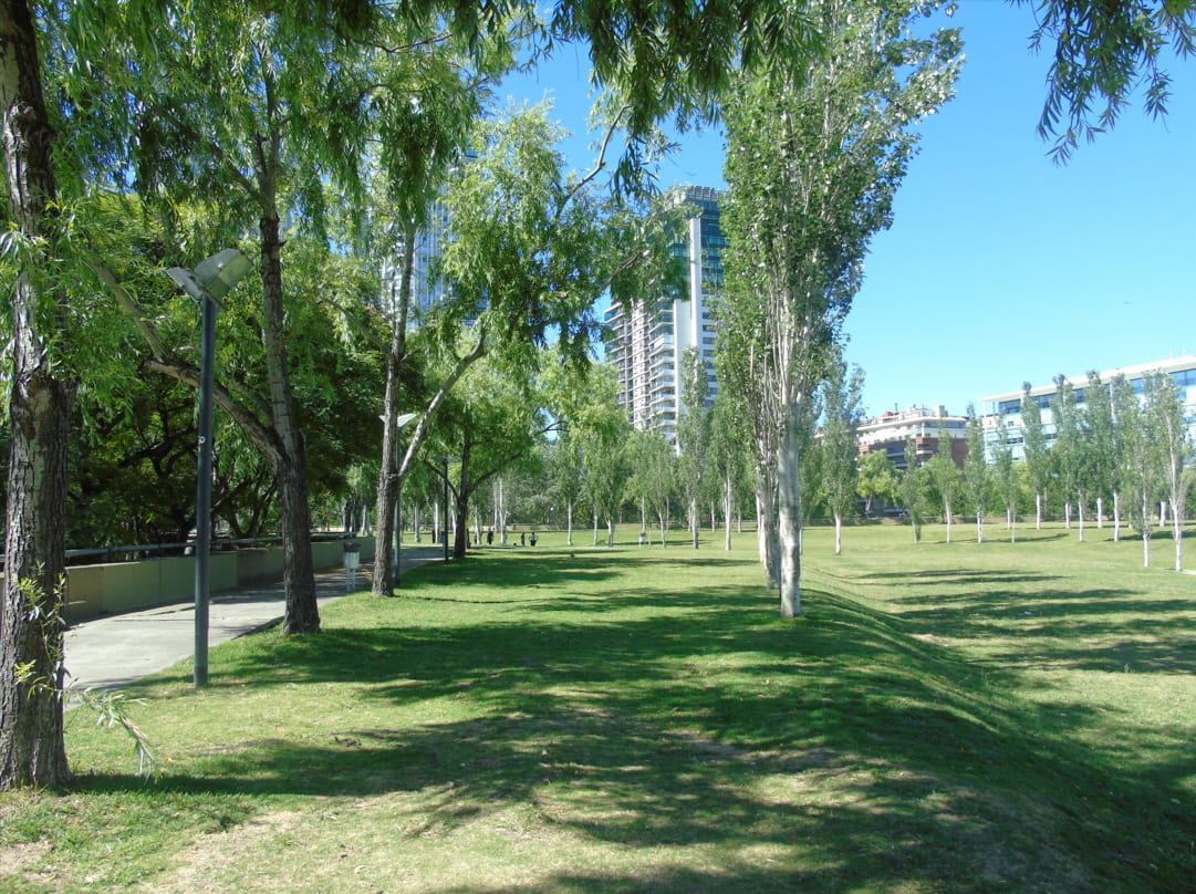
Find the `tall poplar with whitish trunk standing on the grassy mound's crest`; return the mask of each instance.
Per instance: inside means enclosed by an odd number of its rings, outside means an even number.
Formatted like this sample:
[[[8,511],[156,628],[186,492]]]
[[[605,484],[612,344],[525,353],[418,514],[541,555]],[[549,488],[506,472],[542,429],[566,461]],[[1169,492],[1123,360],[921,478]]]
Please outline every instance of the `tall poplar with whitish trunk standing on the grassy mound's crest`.
[[[758,308],[759,329],[732,337],[759,355],[753,375],[776,397],[768,426],[777,440],[783,618],[801,610],[804,405],[836,355],[868,244],[891,223],[914,128],[952,96],[962,62],[957,31],[913,34],[935,7],[806,4],[800,14],[822,54],[744,78],[725,103],[727,300]]]

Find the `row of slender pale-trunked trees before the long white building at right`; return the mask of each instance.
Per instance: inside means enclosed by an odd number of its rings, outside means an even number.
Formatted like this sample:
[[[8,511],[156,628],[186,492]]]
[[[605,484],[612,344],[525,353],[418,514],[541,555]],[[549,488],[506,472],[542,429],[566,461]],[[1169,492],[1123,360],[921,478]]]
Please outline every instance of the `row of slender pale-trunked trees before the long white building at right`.
[[[946,522],[948,542],[957,515],[975,518],[980,542],[984,519],[993,513],[1006,517],[1011,539],[1023,511],[1032,511],[1041,528],[1049,506],[1058,509],[1068,529],[1074,523],[1081,541],[1092,521],[1104,527],[1111,519],[1115,541],[1121,540],[1123,522],[1129,522],[1142,539],[1147,566],[1155,519],[1159,524],[1170,519],[1176,570],[1182,571],[1183,523],[1196,482],[1196,444],[1183,389],[1163,371],[1136,381],[1117,375],[1110,382],[1090,372],[1082,393],[1063,376],[1056,385],[1044,407],[1026,383],[1018,418],[1002,414],[988,431],[969,407],[962,469],[942,433],[925,464],[910,444],[899,476],[895,469],[878,468],[887,466],[881,455],[866,457],[861,467],[872,482],[869,492],[904,506],[915,540],[930,506]],[[1043,409],[1050,410],[1046,421]]]

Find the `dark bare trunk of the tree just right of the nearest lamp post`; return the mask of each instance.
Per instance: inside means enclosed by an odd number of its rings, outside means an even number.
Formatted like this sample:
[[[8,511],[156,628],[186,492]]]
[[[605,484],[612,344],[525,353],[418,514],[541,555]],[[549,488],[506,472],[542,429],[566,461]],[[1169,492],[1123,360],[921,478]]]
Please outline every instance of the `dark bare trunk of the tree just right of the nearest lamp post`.
[[[282,632],[318,633],[316,568],[311,554],[311,510],[307,504],[307,455],[283,337],[282,241],[279,217],[264,214],[262,231],[262,337],[270,387],[270,422],[279,438],[280,457],[274,469],[279,482],[282,527],[282,582],[286,616]]]

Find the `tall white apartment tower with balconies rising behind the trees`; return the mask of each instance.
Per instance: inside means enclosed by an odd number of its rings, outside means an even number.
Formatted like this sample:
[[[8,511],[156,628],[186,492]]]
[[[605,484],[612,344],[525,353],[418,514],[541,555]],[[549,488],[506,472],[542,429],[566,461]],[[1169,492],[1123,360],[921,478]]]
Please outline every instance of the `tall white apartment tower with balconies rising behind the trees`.
[[[642,431],[659,431],[677,444],[682,412],[682,358],[687,348],[702,352],[708,401],[718,394],[714,376],[714,323],[710,296],[722,286],[726,238],[719,223],[720,194],[709,187],[687,187],[677,201],[694,208],[684,243],[673,250],[685,259],[685,290],[675,296],[645,296],[630,306],[606,311],[610,332],[606,357],[618,370],[620,403]]]

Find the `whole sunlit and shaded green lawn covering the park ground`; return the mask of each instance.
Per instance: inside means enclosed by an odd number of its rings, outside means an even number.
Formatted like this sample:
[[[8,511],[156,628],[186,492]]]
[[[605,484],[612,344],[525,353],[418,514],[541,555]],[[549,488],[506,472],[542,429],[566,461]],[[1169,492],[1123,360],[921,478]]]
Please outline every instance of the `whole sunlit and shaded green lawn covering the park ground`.
[[[1107,530],[813,529],[786,624],[751,536],[635,534],[132,687],[150,783],[73,714],[77,784],[0,796],[0,890],[1196,890],[1196,578]]]

